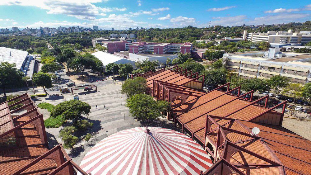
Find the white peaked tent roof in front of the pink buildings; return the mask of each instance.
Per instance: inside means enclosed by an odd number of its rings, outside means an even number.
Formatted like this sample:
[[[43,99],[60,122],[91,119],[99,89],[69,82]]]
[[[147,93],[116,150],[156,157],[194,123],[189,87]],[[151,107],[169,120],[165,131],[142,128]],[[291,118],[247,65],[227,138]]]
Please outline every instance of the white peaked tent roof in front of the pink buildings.
[[[115,64],[129,63],[129,64],[132,64],[133,67],[135,67],[136,60],[134,60],[134,59],[126,59],[126,58],[119,57],[119,56],[114,55],[114,54],[109,54],[109,53],[103,52],[103,51],[97,51],[97,52],[93,53],[92,55],[94,55],[95,57],[100,59],[100,61],[103,62],[104,66],[106,66],[109,63],[115,63]]]

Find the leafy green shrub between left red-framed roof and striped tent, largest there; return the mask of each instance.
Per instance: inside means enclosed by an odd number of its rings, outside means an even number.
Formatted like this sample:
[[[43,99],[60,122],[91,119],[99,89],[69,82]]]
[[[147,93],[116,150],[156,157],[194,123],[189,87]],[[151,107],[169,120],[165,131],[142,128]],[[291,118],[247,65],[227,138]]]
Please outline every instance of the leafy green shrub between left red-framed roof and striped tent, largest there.
[[[78,143],[79,138],[77,136],[71,135],[77,131],[74,126],[66,126],[59,132],[59,137],[64,141],[63,147],[66,149],[71,149],[75,144]]]

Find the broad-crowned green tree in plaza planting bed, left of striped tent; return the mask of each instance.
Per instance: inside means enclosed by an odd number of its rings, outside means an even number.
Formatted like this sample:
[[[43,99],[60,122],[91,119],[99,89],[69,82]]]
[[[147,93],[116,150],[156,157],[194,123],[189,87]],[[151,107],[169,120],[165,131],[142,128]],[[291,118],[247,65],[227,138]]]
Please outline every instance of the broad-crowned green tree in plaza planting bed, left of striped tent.
[[[81,119],[81,115],[89,115],[91,112],[91,106],[80,100],[70,100],[67,102],[61,102],[56,105],[50,113],[51,117],[63,115],[66,120],[78,121]]]

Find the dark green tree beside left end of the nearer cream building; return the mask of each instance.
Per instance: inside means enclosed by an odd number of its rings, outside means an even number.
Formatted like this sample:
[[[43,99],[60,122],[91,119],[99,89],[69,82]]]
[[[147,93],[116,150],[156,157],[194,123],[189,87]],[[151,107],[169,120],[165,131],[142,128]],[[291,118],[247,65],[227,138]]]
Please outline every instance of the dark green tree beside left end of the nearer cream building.
[[[207,85],[218,85],[218,84],[225,84],[226,83],[226,76],[228,70],[227,69],[211,69],[206,70],[205,74],[205,82],[204,84]]]

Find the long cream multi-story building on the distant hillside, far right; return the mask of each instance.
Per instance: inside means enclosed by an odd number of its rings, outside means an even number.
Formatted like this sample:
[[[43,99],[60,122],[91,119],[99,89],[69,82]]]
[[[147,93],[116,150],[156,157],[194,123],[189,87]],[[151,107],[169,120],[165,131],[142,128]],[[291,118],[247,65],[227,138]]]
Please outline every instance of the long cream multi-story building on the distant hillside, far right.
[[[244,31],[243,38],[252,42],[266,41],[268,43],[301,43],[305,44],[311,41],[311,32],[302,31],[293,33],[293,30],[268,31],[267,33],[247,33]]]

